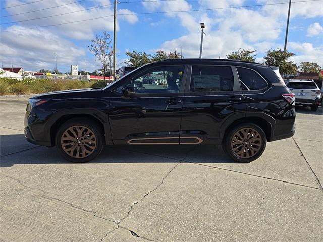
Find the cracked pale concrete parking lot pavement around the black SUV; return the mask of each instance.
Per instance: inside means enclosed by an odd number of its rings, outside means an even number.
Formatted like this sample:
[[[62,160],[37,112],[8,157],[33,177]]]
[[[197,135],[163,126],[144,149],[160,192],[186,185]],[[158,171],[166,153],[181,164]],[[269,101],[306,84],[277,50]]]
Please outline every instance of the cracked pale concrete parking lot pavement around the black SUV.
[[[106,147],[90,163],[28,143],[0,97],[0,241],[322,241],[323,110],[250,164],[221,146]]]

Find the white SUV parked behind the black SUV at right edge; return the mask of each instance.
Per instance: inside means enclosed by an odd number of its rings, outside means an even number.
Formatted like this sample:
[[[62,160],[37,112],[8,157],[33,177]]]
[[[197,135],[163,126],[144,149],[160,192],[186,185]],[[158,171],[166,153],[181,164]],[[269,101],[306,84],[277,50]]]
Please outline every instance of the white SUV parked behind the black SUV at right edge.
[[[312,111],[317,111],[322,91],[314,81],[290,81],[287,87],[295,93],[296,105],[309,106]]]

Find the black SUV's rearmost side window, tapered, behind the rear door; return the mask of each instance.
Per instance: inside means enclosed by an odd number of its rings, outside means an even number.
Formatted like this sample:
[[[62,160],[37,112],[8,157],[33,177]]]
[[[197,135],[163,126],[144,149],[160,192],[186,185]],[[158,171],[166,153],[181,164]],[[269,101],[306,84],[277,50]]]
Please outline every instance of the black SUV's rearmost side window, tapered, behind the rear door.
[[[242,90],[261,90],[268,86],[258,73],[251,69],[237,67]]]

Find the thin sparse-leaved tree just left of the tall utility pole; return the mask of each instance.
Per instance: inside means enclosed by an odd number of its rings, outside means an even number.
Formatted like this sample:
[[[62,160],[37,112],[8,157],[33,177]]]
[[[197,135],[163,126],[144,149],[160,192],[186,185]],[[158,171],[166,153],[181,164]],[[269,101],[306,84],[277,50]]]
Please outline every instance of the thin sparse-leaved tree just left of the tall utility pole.
[[[101,62],[105,81],[105,73],[109,66],[109,58],[113,53],[113,51],[110,50],[110,34],[107,34],[106,31],[104,31],[102,36],[96,35],[95,39],[92,39],[91,42],[91,45],[87,47],[89,48],[89,51],[95,55],[98,61]]]

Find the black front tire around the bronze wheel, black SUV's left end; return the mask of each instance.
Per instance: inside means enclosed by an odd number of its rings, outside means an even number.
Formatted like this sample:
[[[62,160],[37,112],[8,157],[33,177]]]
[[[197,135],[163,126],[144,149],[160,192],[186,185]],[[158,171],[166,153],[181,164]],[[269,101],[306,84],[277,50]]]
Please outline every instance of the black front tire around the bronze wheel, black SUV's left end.
[[[84,129],[82,129],[83,127],[84,127]],[[72,134],[72,135],[70,135],[70,137],[73,137],[76,139],[76,137],[74,137],[74,136],[76,136],[75,133],[71,133],[70,129],[75,130],[77,128],[79,129],[77,132],[84,130],[83,132],[81,132],[82,134],[79,135],[80,138],[77,138],[77,139],[79,139],[78,142],[81,142],[80,139],[82,139],[82,141],[84,141],[84,142],[86,142],[87,139],[90,139],[90,140],[87,140],[88,142],[85,144],[84,143],[76,143],[77,140],[73,141],[76,144],[67,145],[66,143],[63,143],[63,142],[65,142],[65,141],[63,141],[63,139],[66,138],[65,132],[67,132],[67,131],[70,132],[69,134]],[[87,134],[87,132],[89,132],[89,134],[87,136],[85,136]],[[82,136],[84,136],[84,140],[83,140]],[[71,140],[71,139],[69,139],[69,140]],[[69,141],[67,141],[67,142],[69,143]],[[70,143],[73,143],[73,142],[70,142]],[[85,162],[88,162],[88,161],[94,159],[102,152],[102,150],[104,148],[103,131],[102,131],[101,127],[96,122],[93,122],[89,118],[72,118],[70,120],[67,120],[65,123],[63,123],[59,127],[57,134],[56,134],[56,138],[55,138],[55,144],[56,144],[56,148],[57,148],[57,151],[59,152],[59,154],[61,156],[63,156],[66,160],[74,162],[74,163],[85,163]],[[84,144],[84,145],[82,145],[82,144]],[[64,145],[66,145],[65,149],[63,148]],[[82,146],[82,148],[76,147],[76,146],[80,146],[80,145]],[[72,146],[74,146],[75,148],[72,148]],[[73,154],[75,154],[79,151],[78,156],[82,156],[82,157],[76,158],[75,155],[68,154],[69,152],[66,151],[67,147],[68,147],[68,149],[73,149]],[[72,153],[72,151],[70,153]]]

